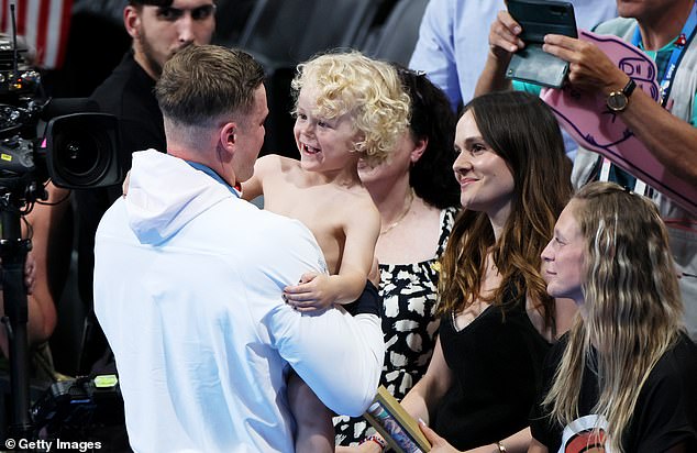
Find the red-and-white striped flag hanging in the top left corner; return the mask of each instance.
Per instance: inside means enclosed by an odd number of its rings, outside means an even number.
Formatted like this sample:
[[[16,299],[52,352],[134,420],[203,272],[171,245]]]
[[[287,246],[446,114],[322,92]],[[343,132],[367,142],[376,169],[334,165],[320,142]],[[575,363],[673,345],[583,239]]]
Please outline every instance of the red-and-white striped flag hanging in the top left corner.
[[[16,34],[35,51],[34,65],[53,69],[63,64],[73,0],[0,0],[0,32],[12,35],[10,4],[14,4]]]

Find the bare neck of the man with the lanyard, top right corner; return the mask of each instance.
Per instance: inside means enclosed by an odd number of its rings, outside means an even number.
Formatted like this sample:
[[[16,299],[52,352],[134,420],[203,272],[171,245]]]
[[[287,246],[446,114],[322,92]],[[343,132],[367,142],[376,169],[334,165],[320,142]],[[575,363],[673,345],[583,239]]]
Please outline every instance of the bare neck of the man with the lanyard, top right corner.
[[[660,14],[637,18],[644,49],[659,51],[673,42],[685,26],[694,3],[695,0],[675,0]]]

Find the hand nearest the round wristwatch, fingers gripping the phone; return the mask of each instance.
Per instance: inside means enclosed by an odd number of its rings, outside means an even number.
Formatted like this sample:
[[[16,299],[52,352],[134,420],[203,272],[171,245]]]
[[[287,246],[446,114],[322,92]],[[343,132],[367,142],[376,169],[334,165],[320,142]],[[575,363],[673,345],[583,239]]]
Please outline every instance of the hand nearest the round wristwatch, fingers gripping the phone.
[[[593,43],[560,34],[544,36],[544,52],[569,63],[568,81],[587,91],[600,91],[605,96],[622,89],[627,74]]]

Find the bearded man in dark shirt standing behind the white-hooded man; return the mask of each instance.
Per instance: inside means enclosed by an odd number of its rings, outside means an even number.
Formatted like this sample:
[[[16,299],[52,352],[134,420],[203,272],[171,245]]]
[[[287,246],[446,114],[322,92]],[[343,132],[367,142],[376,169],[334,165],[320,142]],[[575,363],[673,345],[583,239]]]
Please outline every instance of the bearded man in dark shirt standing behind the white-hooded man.
[[[132,48],[113,73],[92,93],[100,110],[119,119],[119,158],[125,170],[131,154],[166,151],[163,117],[153,88],[162,67],[177,51],[209,44],[215,29],[214,0],[129,0],[123,22],[133,38]],[[78,287],[89,312],[79,372],[113,371],[101,329],[92,316],[95,233],[104,211],[121,195],[121,186],[76,192],[78,207]],[[98,364],[96,362],[100,360]]]

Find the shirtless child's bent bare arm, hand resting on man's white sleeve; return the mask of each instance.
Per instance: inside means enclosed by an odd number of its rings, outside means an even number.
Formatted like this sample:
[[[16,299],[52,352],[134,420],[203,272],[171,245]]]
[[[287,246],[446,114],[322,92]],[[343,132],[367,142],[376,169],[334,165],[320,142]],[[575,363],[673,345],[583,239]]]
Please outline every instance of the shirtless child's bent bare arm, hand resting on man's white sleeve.
[[[300,284],[284,288],[287,302],[300,311],[323,309],[332,303],[350,303],[365,288],[373,266],[380,216],[373,201],[352,206],[344,225],[346,235],[338,275],[307,273]]]

